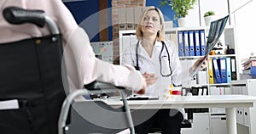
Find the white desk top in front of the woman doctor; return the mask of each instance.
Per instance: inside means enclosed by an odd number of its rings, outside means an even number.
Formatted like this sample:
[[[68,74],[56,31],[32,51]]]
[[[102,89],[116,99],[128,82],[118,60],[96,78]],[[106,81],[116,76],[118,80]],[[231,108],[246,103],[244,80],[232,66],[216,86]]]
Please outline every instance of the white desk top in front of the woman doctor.
[[[105,101],[111,106],[120,106],[121,101]],[[177,108],[234,108],[253,107],[256,97],[246,95],[171,96],[159,100],[131,100],[131,109],[177,109]]]

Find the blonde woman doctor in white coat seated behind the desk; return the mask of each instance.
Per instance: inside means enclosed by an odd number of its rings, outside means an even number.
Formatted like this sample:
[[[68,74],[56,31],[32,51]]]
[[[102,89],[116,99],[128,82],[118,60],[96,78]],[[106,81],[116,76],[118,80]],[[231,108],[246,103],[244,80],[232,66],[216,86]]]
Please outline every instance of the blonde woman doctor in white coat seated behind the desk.
[[[138,42],[131,44],[123,53],[122,64],[131,64],[146,78],[148,90],[145,95],[163,96],[163,89],[171,84],[181,86],[182,81],[190,77],[201,60],[196,61],[189,70],[182,71],[177,47],[173,42],[165,40],[164,18],[158,8],[148,7],[144,10],[136,35]],[[170,111],[176,112],[170,115]],[[137,119],[134,120],[137,122]],[[149,120],[136,126],[136,131],[138,134],[148,133],[150,126],[158,123],[163,134],[180,134],[182,121],[183,114],[180,111],[160,109]]]

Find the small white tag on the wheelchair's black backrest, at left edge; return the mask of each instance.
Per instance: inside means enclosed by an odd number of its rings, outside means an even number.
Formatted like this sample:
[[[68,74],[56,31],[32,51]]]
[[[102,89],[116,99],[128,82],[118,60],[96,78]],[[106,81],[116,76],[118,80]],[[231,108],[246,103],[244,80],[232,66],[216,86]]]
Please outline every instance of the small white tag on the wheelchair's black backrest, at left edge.
[[[17,99],[0,101],[0,110],[1,109],[19,109],[19,103]]]

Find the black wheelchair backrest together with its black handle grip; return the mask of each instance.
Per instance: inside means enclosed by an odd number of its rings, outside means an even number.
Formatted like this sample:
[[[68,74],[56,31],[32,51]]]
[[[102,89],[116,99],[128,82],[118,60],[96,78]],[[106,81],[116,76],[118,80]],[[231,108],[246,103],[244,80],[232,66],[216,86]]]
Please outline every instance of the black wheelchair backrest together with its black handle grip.
[[[44,11],[15,7],[5,8],[3,16],[12,24],[44,26],[49,20]],[[0,44],[0,101],[17,99],[20,106],[0,111],[1,133],[57,133],[61,103],[66,97],[61,59],[61,35],[56,33]]]

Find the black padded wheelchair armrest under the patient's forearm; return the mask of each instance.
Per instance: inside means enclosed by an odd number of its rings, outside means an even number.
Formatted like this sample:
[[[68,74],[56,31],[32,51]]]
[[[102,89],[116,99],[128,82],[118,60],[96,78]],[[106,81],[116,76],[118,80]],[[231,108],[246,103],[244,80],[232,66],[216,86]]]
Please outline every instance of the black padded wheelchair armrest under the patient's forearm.
[[[125,89],[125,87],[115,87],[112,83],[102,81],[92,81],[91,83],[84,85],[89,91],[104,90],[104,89]]]

